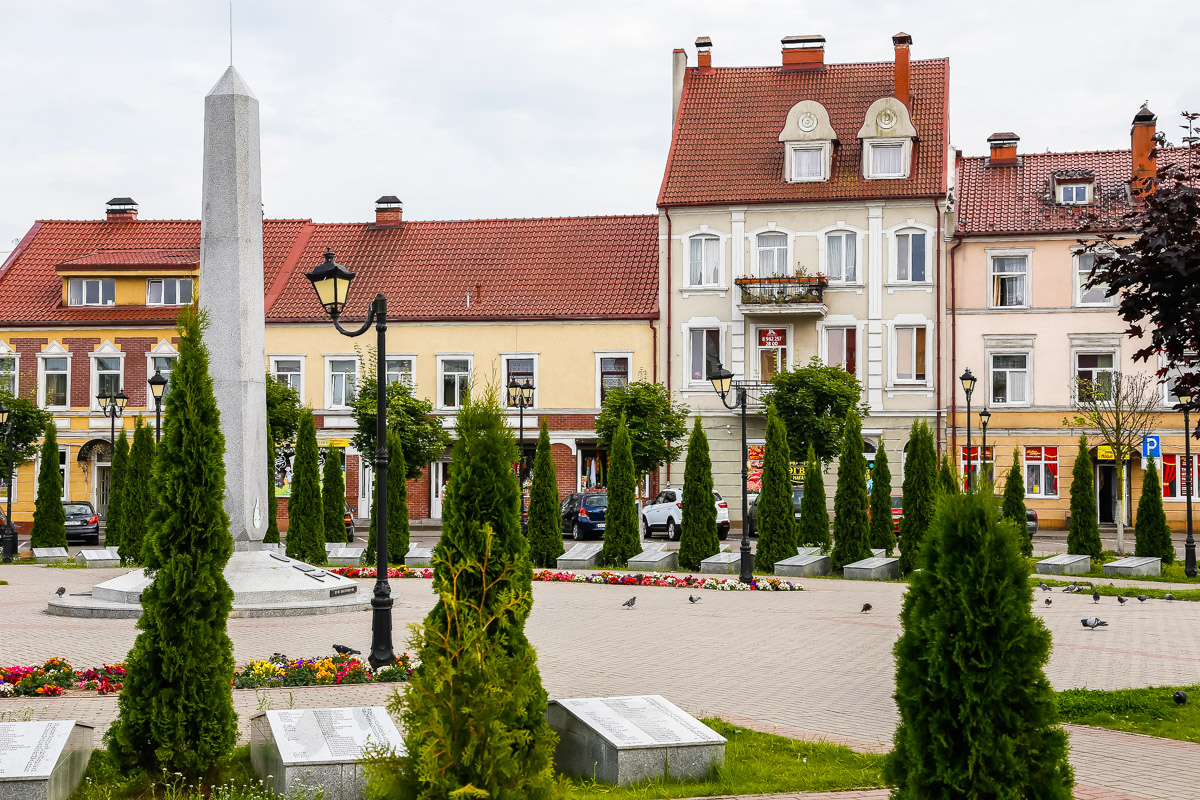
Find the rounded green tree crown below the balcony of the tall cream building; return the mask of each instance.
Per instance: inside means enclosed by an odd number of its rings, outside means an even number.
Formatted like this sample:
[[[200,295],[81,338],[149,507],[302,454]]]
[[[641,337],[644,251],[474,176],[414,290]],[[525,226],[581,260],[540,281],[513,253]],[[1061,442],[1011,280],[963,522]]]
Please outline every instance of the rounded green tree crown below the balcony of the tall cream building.
[[[862,421],[868,415],[862,402],[863,385],[841,367],[829,367],[812,356],[803,367],[780,372],[770,381],[768,399],[787,428],[792,452],[817,452],[828,464],[841,451],[850,411]]]

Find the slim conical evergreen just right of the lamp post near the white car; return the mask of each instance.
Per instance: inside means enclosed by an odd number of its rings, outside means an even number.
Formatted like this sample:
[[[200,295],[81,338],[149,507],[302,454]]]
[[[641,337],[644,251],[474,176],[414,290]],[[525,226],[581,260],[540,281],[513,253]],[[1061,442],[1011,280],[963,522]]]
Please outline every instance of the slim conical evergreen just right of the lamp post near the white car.
[[[758,492],[758,547],[754,565],[774,572],[775,561],[796,555],[796,509],[792,506],[792,455],[787,428],[772,405],[767,409],[767,444],[762,456],[762,489]]]

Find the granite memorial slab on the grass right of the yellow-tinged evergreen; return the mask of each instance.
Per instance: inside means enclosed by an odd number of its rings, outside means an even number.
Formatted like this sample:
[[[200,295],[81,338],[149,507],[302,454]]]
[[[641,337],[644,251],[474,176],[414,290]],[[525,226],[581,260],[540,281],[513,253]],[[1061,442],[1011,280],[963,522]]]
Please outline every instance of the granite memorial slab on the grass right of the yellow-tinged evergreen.
[[[698,780],[725,762],[725,736],[659,694],[551,700],[546,720],[566,775],[628,786]]]

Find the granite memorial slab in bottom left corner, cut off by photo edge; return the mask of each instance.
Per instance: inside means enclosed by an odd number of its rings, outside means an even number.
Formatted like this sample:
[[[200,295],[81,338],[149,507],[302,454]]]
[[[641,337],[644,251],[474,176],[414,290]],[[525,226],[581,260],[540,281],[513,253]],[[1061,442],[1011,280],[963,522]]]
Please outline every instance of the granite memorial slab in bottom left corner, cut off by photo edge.
[[[0,722],[0,798],[66,800],[91,758],[92,728],[74,720]]]

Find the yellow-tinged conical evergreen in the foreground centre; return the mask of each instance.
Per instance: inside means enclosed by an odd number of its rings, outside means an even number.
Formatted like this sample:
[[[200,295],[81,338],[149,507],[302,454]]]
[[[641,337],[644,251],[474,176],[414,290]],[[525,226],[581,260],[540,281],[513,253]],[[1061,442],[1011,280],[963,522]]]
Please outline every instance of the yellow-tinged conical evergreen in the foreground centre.
[[[433,551],[438,604],[413,637],[418,667],[392,698],[408,756],[376,762],[372,796],[554,793],[556,736],[524,634],[533,570],[521,533],[516,444],[496,390],[458,410],[454,477]]]

